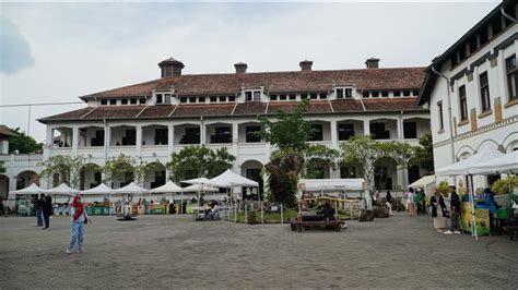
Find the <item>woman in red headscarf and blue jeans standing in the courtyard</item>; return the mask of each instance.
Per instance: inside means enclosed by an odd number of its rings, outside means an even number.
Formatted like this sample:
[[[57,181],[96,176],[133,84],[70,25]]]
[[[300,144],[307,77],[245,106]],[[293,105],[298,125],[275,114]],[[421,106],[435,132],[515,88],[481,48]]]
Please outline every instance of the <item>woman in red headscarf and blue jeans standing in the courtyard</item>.
[[[78,242],[78,253],[83,253],[84,242],[84,223],[89,216],[84,210],[81,196],[75,195],[73,197],[72,206],[70,207],[70,243],[67,246],[67,254],[72,253],[72,249]]]

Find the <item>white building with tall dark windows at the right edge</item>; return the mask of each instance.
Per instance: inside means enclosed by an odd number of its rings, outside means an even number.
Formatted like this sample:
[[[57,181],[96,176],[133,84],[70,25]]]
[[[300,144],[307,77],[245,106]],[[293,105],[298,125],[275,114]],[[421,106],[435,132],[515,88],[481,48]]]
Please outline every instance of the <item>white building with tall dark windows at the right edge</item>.
[[[517,11],[503,1],[427,69],[419,105],[429,107],[435,169],[485,146],[518,149]]]

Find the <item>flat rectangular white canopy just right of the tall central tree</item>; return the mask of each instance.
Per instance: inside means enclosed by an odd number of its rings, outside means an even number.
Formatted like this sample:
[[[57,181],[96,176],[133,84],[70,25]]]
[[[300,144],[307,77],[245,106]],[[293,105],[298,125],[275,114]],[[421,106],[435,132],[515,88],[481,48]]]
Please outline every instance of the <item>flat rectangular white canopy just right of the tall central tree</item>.
[[[301,179],[298,188],[304,192],[363,191],[365,180],[357,179]]]

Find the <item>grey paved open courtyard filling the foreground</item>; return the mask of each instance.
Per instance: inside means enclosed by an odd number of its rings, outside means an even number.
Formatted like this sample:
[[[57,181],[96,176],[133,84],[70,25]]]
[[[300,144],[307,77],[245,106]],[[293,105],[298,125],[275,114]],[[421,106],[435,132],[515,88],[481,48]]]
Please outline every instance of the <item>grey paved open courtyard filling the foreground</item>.
[[[0,218],[0,289],[476,287],[516,289],[518,242],[445,235],[429,217],[350,221],[342,232],[193,222],[190,216],[93,217],[85,253],[64,253],[69,221]]]

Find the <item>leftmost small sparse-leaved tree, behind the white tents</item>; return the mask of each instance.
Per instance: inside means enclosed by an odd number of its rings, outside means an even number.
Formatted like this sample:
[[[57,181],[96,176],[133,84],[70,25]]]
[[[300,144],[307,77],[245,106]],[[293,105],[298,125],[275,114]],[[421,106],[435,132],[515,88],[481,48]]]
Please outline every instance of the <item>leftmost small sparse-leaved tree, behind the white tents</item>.
[[[39,162],[44,169],[39,173],[47,180],[52,180],[54,184],[66,183],[72,189],[79,189],[81,183],[81,169],[92,158],[78,155],[75,157],[56,155]]]

